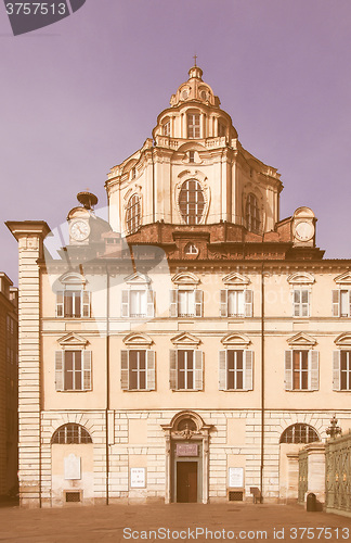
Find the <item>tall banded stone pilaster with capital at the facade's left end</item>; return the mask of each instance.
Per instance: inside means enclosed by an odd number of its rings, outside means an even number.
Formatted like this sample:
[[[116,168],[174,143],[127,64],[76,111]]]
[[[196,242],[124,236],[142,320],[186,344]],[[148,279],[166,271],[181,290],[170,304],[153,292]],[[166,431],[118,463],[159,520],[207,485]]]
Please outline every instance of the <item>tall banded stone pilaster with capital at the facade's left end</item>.
[[[6,223],[18,241],[18,477],[20,502],[41,506],[40,480],[40,269],[42,220]]]

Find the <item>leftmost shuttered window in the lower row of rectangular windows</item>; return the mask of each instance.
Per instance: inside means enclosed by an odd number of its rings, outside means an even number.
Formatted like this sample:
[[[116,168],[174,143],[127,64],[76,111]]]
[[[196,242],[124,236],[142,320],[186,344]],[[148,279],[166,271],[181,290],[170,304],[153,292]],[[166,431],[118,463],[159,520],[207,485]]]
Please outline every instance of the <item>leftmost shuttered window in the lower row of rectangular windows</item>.
[[[91,351],[56,351],[55,388],[91,390]]]

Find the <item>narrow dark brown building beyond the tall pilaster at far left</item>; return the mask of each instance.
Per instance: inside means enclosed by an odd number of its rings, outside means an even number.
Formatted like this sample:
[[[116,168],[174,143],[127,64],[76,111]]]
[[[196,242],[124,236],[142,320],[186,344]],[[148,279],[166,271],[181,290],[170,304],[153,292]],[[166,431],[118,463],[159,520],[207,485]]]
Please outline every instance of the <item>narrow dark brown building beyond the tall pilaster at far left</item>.
[[[17,289],[0,273],[0,500],[17,492]]]

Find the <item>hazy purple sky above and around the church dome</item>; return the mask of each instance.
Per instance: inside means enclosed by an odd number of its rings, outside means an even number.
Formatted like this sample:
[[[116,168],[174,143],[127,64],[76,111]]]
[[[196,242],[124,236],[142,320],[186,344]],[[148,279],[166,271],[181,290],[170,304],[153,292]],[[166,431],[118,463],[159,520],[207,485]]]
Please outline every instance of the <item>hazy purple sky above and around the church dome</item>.
[[[328,257],[351,257],[350,0],[87,0],[13,37],[0,4],[0,218],[65,220],[139,149],[193,55],[242,144],[277,167],[281,218],[318,218]],[[0,226],[0,270],[17,243]]]

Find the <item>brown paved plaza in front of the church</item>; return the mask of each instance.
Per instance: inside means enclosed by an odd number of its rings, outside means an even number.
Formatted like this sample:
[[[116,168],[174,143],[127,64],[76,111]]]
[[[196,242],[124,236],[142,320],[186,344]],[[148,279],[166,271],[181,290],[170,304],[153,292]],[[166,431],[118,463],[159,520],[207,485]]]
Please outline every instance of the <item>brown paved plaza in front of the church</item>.
[[[109,505],[0,508],[0,542],[350,541],[351,518],[299,506]],[[207,531],[207,532],[206,532]]]

